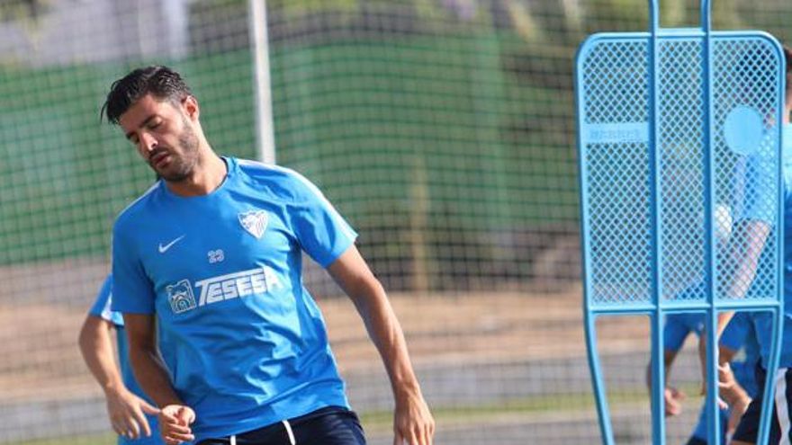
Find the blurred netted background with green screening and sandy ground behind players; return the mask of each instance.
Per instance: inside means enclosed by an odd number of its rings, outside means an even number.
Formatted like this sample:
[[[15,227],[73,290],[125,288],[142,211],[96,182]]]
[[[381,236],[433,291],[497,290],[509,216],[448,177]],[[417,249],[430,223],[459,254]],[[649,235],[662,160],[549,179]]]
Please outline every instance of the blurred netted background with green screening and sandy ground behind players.
[[[599,441],[572,61],[591,32],[644,30],[646,3],[267,2],[278,164],[360,232],[437,444]],[[664,26],[698,22],[698,2],[661,4]],[[792,39],[787,1],[714,7],[716,29]],[[130,68],[166,64],[193,86],[212,147],[256,157],[248,27],[240,0],[0,3],[0,443],[114,441],[76,337],[109,271],[112,220],[153,177],[99,109]],[[362,323],[323,271],[306,280],[370,443],[392,443],[392,397]],[[600,330],[617,439],[647,443],[647,324]],[[690,397],[669,443],[696,422],[697,376],[683,353],[671,380]]]

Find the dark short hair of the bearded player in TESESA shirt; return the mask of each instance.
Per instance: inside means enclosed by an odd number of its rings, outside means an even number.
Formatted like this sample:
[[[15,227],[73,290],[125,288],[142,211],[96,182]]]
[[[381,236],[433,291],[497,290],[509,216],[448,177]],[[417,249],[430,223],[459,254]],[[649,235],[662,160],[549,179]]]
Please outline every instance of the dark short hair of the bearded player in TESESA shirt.
[[[121,114],[146,94],[179,103],[193,92],[182,76],[169,67],[142,67],[112,83],[100,112],[108,122],[118,124]]]

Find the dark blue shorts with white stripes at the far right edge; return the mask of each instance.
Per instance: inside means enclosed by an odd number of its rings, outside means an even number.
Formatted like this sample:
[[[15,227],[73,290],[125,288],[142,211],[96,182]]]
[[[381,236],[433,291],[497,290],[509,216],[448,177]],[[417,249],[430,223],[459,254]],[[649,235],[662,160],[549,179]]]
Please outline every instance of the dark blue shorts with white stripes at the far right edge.
[[[756,443],[759,437],[759,423],[761,419],[761,400],[764,396],[764,385],[767,380],[767,372],[761,366],[756,367],[756,383],[759,386],[759,394],[754,397],[748,410],[743,414],[740,419],[740,424],[737,425],[737,431],[734,432],[732,439],[734,441],[743,441],[747,443]],[[781,368],[775,375],[775,401],[772,406],[772,415],[770,416],[770,440],[769,445],[778,444],[781,442],[781,437],[786,437],[789,443],[792,440],[792,431],[790,431],[789,419],[792,418],[790,407],[792,407],[792,369]],[[783,431],[783,432],[782,432]]]

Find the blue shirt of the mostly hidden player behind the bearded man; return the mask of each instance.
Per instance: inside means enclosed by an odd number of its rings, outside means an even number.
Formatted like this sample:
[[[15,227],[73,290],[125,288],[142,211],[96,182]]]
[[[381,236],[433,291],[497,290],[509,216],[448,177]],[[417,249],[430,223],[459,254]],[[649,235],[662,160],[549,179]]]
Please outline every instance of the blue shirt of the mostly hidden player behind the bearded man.
[[[123,328],[123,317],[121,313],[111,310],[112,301],[112,274],[110,274],[99,289],[99,294],[96,296],[94,306],[88,311],[92,316],[98,316],[108,323],[115,326],[115,337],[118,344],[119,366],[121,368],[121,380],[124,386],[130,390],[135,396],[139,396],[146,400],[149,404],[153,405],[150,399],[146,396],[143,390],[139,387],[138,381],[132,375],[132,368],[130,360],[127,355],[127,335]],[[145,413],[144,413],[145,414]],[[148,419],[148,426],[151,428],[151,435],[148,437],[141,437],[138,440],[131,440],[123,436],[118,436],[119,445],[162,445],[162,438],[159,436],[159,429],[157,428],[157,416],[146,414]]]

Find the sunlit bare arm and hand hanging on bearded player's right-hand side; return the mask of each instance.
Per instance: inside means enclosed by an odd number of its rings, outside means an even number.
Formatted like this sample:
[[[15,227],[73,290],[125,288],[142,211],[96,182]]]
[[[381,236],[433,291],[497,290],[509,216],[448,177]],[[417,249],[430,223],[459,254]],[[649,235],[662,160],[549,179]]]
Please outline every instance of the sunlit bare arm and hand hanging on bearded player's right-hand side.
[[[330,264],[328,271],[355,303],[391,379],[396,403],[394,443],[401,445],[402,441],[407,441],[413,445],[430,445],[435,421],[421,393],[401,325],[382,284],[355,245]]]

